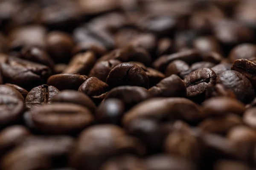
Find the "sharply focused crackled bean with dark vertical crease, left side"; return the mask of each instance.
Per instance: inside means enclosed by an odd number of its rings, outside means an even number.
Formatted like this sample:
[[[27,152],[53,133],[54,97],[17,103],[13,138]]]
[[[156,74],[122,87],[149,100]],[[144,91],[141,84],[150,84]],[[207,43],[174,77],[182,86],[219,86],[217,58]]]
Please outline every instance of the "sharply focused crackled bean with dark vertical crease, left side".
[[[49,104],[58,92],[60,91],[51,85],[40,85],[32,88],[25,99],[26,108],[32,109],[40,105]]]

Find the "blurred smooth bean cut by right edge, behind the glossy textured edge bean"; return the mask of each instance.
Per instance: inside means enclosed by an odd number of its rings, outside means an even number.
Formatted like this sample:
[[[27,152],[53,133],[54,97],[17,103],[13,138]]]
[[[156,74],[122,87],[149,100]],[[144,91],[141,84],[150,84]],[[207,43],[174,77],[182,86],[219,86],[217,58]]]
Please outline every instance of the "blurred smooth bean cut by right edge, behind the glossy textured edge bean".
[[[256,45],[254,44],[240,44],[230,51],[229,59],[234,62],[236,59],[251,59],[256,56]]]

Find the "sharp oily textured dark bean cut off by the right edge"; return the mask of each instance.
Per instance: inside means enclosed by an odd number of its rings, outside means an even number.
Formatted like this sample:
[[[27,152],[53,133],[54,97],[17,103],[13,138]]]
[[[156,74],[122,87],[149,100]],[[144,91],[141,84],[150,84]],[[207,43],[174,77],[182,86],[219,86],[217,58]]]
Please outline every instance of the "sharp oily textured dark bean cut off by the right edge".
[[[232,65],[232,70],[238,71],[243,74],[256,88],[256,63],[248,59],[236,59]]]

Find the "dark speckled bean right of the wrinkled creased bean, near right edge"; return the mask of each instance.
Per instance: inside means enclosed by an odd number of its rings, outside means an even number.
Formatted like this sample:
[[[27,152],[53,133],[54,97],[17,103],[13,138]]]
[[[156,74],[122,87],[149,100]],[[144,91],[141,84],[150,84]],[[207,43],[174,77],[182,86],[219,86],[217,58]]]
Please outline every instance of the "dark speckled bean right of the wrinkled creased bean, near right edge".
[[[249,103],[255,98],[253,85],[243,74],[229,70],[219,74],[217,82],[224,85],[236,94],[236,98],[244,103]]]

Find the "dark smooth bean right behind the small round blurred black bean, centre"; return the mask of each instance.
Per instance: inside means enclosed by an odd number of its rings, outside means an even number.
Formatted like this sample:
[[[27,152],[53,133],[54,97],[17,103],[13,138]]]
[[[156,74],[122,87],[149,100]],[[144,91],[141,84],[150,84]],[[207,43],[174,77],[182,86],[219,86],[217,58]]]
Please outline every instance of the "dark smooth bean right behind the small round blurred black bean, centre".
[[[137,86],[119,86],[113,88],[106,95],[105,99],[116,98],[120,99],[124,104],[125,108],[129,109],[132,106],[150,98],[151,95],[148,90]]]

